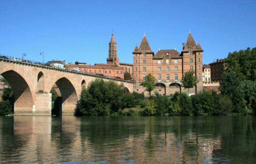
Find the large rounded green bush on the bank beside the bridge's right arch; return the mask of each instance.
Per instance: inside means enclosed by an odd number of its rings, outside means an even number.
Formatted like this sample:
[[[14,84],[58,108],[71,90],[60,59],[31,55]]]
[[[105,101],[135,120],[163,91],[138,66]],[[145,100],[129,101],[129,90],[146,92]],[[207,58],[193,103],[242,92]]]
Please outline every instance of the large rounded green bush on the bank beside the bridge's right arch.
[[[123,85],[118,85],[113,81],[96,79],[90,83],[88,89],[82,89],[76,114],[109,115],[117,112],[118,109],[124,106],[122,102],[123,95]]]

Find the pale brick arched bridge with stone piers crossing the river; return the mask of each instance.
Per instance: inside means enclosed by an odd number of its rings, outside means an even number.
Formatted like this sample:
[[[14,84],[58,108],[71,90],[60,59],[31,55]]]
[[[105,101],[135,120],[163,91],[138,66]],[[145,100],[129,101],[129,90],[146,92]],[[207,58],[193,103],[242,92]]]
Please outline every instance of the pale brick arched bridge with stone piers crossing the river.
[[[14,92],[15,115],[51,115],[52,94],[56,84],[61,93],[61,114],[74,114],[82,86],[87,87],[97,78],[123,83],[133,92],[133,82],[98,75],[80,73],[0,58],[0,74]]]

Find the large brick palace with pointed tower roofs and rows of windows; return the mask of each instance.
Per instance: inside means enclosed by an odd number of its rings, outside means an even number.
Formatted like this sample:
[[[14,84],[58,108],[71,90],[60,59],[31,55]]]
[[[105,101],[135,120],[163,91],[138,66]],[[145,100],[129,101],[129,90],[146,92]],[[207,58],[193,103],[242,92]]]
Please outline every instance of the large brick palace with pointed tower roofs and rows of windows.
[[[153,74],[156,78],[157,90],[161,95],[172,95],[176,91],[188,91],[181,86],[181,79],[185,72],[194,70],[198,83],[190,93],[203,90],[203,49],[200,43],[196,44],[189,33],[186,44],[182,43],[182,51],[159,50],[156,54],[151,50],[146,35],[144,34],[140,46],[136,45],[133,54],[133,79],[136,82],[134,90],[139,93],[145,91],[142,82],[147,74]],[[154,93],[154,91],[153,91]]]

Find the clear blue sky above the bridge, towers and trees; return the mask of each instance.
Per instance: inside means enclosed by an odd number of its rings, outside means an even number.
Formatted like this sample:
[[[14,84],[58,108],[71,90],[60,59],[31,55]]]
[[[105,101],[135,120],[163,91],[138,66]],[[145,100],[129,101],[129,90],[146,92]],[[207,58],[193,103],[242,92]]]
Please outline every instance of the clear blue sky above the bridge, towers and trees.
[[[203,63],[256,47],[256,1],[0,0],[0,54],[106,63],[114,30],[121,62],[146,33],[151,49],[181,52],[191,31]]]

